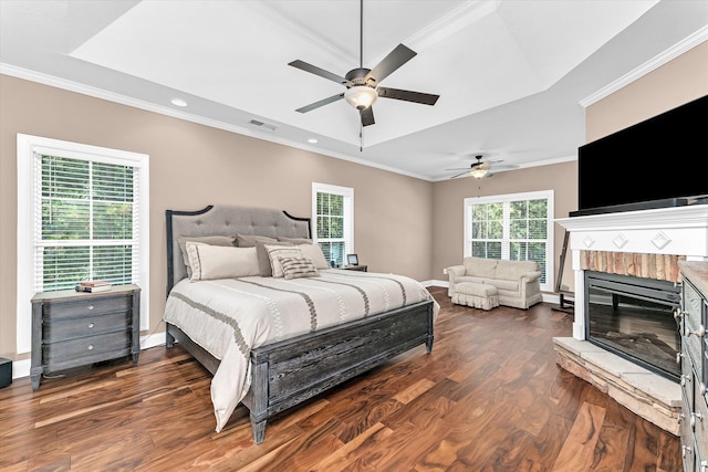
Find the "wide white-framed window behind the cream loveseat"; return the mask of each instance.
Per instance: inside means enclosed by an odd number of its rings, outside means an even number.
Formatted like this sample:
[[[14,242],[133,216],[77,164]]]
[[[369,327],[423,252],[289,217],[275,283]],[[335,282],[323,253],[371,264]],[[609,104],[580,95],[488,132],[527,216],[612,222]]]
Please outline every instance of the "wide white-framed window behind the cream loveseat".
[[[465,256],[535,261],[553,291],[553,190],[465,199]]]

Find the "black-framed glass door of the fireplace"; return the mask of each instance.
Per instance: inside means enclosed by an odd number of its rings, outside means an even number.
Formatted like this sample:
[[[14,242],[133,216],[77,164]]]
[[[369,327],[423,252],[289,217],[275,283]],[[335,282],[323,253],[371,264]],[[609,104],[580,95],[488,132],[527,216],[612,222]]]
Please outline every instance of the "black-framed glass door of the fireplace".
[[[679,306],[673,282],[585,271],[585,338],[671,380],[680,376]]]

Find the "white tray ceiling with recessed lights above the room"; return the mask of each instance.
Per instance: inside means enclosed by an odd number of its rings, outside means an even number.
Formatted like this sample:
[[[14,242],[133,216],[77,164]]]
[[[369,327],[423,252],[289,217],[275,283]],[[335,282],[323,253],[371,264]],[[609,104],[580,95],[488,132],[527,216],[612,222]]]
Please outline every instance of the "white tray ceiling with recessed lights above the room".
[[[581,102],[708,38],[706,0],[366,0],[363,11],[363,66],[404,43],[417,55],[382,85],[440,98],[379,98],[361,138],[344,101],[296,113],[344,86],[288,65],[358,67],[358,0],[0,0],[0,72],[444,180],[479,153],[520,167],[574,159]]]

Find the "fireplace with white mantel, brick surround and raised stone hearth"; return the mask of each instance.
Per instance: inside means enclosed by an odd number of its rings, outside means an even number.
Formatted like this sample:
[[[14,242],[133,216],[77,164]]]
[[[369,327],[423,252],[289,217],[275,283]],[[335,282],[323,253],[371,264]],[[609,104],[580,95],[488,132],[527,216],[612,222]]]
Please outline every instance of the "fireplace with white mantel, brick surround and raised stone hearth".
[[[678,434],[678,261],[708,261],[708,204],[556,222],[569,232],[575,294],[573,336],[553,339],[558,364]]]

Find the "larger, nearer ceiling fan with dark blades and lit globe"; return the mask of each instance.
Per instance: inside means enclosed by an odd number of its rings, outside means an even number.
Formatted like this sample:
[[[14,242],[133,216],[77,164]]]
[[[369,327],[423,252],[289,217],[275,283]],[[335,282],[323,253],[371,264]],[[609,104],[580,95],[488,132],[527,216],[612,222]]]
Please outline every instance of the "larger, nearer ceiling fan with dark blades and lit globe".
[[[346,91],[341,94],[336,94],[331,97],[311,103],[310,105],[305,105],[301,108],[298,108],[295,112],[308,113],[321,106],[344,98],[350,105],[358,109],[362,118],[362,126],[369,126],[375,123],[372,104],[376,102],[377,97],[402,99],[406,102],[420,103],[424,105],[435,105],[435,103],[439,98],[439,95],[404,91],[399,88],[388,88],[378,85],[384,78],[395,72],[398,67],[410,61],[417,54],[416,52],[412,51],[403,44],[398,44],[374,69],[365,69],[363,65],[363,50],[364,0],[360,0],[360,65],[357,69],[352,69],[346,73],[346,75],[342,77],[337,74],[325,71],[315,65],[308,64],[306,62],[300,60],[292,61],[288,64],[342,84],[346,87]]]

